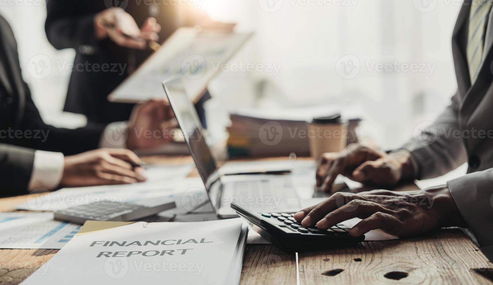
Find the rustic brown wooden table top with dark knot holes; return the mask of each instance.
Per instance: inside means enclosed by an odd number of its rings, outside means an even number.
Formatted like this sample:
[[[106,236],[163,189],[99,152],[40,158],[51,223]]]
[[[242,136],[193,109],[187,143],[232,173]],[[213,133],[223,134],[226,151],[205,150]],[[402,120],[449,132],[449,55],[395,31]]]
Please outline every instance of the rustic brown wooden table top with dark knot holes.
[[[191,159],[152,157],[145,161],[183,163]],[[31,196],[2,198],[0,211],[13,211]],[[19,284],[57,251],[0,249],[0,285]],[[395,284],[396,280],[422,285],[492,284],[493,264],[459,229],[298,254],[274,245],[246,246],[241,284],[296,284],[297,278],[300,284]]]

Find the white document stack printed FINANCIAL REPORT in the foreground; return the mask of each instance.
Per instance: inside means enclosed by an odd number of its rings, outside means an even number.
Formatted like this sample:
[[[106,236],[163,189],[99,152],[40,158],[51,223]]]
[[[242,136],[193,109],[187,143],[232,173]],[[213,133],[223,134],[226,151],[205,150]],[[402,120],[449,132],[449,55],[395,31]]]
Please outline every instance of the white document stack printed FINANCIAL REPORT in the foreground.
[[[24,285],[238,284],[241,219],[145,223],[76,235]]]

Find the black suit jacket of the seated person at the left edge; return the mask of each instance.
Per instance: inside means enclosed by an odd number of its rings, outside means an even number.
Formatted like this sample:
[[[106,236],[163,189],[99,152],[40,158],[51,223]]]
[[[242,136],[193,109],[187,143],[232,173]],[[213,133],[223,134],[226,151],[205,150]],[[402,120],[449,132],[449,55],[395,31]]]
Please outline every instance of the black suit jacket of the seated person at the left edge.
[[[0,192],[25,192],[34,151],[77,154],[98,147],[104,125],[78,129],[45,124],[23,81],[17,43],[0,16]]]

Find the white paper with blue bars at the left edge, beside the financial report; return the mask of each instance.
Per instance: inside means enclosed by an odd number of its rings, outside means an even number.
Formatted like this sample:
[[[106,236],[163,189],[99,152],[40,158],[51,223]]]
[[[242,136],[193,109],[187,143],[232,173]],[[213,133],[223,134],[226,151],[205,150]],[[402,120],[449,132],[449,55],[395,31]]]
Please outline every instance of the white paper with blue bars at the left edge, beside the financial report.
[[[80,225],[53,220],[53,213],[0,213],[0,248],[60,249]]]

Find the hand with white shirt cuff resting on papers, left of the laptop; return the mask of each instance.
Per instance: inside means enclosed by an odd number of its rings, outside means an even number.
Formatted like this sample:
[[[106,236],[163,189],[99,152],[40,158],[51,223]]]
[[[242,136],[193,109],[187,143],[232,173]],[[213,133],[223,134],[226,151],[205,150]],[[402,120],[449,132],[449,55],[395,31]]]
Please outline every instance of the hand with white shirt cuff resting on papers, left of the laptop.
[[[141,160],[126,149],[98,149],[65,158],[62,187],[130,184],[147,180]]]

